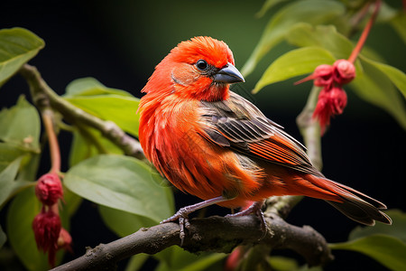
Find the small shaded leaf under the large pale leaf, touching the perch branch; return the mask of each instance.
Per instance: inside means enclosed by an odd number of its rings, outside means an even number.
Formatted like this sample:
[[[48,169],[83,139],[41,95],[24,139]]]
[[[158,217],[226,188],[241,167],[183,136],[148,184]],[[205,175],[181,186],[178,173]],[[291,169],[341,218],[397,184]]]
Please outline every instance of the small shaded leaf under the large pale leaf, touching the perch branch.
[[[130,235],[143,227],[152,227],[157,222],[134,213],[108,208],[103,205],[99,205],[98,210],[106,226],[119,237]]]

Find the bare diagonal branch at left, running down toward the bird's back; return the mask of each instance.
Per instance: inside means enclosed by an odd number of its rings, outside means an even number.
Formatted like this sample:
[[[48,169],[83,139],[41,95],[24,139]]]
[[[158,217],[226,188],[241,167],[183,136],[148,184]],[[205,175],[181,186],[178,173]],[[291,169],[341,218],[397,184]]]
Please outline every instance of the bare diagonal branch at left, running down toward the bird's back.
[[[138,141],[126,135],[125,132],[112,121],[105,121],[92,116],[82,109],[73,106],[68,101],[60,98],[42,79],[40,72],[29,64],[24,64],[20,73],[30,86],[32,100],[37,107],[51,106],[59,111],[63,117],[73,124],[82,123],[99,130],[102,135],[120,147],[125,154],[143,159],[143,149]]]

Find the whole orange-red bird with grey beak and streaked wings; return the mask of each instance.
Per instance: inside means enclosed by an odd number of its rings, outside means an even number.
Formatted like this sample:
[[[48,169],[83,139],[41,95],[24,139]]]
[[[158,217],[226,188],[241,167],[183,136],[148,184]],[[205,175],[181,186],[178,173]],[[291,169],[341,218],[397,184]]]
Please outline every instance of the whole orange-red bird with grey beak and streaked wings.
[[[159,63],[143,88],[139,139],[157,170],[200,203],[162,222],[180,221],[212,204],[256,213],[271,196],[305,195],[328,201],[365,225],[391,224],[386,206],[328,180],[310,163],[304,147],[245,98],[229,90],[244,82],[225,42],[195,37],[180,42]]]

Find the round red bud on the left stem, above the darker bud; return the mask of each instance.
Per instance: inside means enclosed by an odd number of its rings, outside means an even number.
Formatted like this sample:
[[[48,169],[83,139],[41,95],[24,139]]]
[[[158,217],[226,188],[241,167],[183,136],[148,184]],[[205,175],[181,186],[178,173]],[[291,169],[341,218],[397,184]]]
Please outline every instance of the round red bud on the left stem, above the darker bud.
[[[43,204],[55,204],[63,196],[60,177],[56,173],[42,175],[35,186],[35,194]]]

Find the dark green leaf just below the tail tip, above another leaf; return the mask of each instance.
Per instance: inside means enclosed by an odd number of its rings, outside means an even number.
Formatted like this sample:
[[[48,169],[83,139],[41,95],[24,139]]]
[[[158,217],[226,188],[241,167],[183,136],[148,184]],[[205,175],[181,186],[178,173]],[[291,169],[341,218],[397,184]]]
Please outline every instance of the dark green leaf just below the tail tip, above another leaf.
[[[351,231],[348,240],[364,238],[374,234],[384,234],[399,238],[406,244],[406,213],[401,210],[387,210],[385,212],[391,217],[392,225],[376,223],[374,227],[358,226]]]

